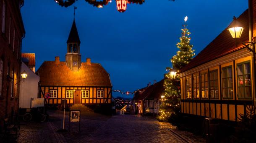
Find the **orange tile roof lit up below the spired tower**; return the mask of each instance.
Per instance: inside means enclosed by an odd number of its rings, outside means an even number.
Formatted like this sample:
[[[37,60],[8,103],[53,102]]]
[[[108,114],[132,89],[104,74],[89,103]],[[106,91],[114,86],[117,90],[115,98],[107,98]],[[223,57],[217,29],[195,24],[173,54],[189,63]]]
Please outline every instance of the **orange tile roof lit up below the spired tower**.
[[[72,71],[65,62],[44,61],[36,73],[42,86],[112,87],[109,74],[98,63],[81,63],[78,71]]]

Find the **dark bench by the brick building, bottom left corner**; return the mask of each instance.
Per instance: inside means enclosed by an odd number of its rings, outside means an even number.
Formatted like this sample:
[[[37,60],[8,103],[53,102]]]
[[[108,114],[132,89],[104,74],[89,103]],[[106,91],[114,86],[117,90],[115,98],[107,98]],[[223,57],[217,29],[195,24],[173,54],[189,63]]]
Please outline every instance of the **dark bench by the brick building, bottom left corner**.
[[[20,134],[20,125],[18,123],[16,124],[11,124],[9,118],[5,118],[3,120],[4,123],[4,134],[6,137],[8,135],[11,135],[12,132],[15,132],[16,137]]]

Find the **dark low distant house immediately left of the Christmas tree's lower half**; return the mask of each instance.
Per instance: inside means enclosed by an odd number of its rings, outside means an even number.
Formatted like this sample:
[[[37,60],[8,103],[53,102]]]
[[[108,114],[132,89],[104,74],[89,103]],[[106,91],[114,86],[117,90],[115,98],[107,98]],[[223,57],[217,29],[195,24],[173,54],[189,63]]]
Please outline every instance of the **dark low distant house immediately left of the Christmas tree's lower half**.
[[[164,80],[152,85],[152,90],[144,99],[144,113],[158,114],[161,105],[161,95],[164,93]],[[147,91],[147,90],[146,90]]]

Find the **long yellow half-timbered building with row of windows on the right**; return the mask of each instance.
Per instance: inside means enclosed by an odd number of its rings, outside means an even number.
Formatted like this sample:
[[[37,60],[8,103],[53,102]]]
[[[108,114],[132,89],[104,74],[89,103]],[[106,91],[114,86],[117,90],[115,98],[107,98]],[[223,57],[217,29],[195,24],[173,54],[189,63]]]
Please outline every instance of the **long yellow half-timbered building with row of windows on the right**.
[[[253,4],[255,25],[256,3]],[[240,41],[249,40],[248,10],[238,17],[244,28]],[[253,29],[255,35],[256,30]],[[238,121],[253,106],[251,52],[242,44],[236,45],[224,29],[188,65],[180,70],[181,112],[187,115]],[[255,75],[254,75],[255,77]]]

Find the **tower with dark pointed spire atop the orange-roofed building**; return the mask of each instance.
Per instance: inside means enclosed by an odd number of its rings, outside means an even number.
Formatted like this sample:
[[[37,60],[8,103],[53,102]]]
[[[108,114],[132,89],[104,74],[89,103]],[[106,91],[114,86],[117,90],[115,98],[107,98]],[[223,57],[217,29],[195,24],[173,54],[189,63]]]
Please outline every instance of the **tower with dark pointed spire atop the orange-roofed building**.
[[[75,18],[67,40],[66,64],[71,70],[78,70],[81,66],[80,39],[76,29]]]

